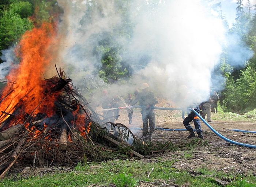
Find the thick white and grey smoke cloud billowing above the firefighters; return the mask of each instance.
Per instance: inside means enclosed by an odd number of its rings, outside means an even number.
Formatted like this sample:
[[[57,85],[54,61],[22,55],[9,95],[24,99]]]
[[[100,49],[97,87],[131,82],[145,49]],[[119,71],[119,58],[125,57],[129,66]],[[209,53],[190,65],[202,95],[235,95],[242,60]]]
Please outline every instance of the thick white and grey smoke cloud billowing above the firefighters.
[[[225,41],[222,21],[211,15],[210,5],[199,0],[136,0],[123,7],[124,18],[117,2],[58,0],[64,13],[53,64],[64,67],[74,85],[83,88],[84,93],[101,93],[108,87],[113,94],[127,95],[147,82],[151,90],[172,100],[178,101],[180,85],[187,85],[198,96],[191,102],[205,100],[211,86],[211,71],[219,63],[221,44]],[[125,46],[121,56],[132,67],[133,79],[125,85],[106,85],[97,75],[101,67],[97,47],[125,19],[132,23],[127,27],[133,30],[131,38],[111,37]],[[54,68],[45,73],[46,77],[53,74]]]

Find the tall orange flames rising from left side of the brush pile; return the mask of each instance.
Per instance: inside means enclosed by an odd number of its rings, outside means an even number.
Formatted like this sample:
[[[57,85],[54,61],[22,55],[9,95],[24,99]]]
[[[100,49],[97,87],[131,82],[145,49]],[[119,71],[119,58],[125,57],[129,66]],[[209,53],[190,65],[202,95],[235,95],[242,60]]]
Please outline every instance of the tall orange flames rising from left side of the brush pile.
[[[42,85],[45,81],[42,76],[53,59],[49,47],[53,44],[55,35],[54,26],[44,23],[22,36],[16,47],[16,55],[20,63],[7,76],[8,81],[12,83],[5,87],[1,95],[1,110],[10,114],[15,113],[16,117],[23,116],[20,111],[29,115],[34,110],[35,113],[41,112],[52,116],[55,107],[51,101],[55,100],[56,94],[49,95],[44,92]],[[19,112],[15,111],[18,108]],[[0,122],[7,117],[9,117],[7,114],[1,114]]]

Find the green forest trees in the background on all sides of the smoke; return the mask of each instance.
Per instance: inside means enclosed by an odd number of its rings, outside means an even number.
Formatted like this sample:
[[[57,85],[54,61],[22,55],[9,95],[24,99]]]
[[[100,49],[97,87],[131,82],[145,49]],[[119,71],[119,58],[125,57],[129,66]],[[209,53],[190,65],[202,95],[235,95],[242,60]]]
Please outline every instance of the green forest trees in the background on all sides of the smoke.
[[[222,44],[219,63],[211,73],[212,86],[218,84],[223,110],[239,114],[256,108],[256,15],[253,13],[256,5],[250,0],[246,2],[244,5],[242,0],[237,0],[236,19],[231,26],[227,23],[221,2],[211,4],[211,9],[218,12],[218,19],[222,20],[226,38],[229,38]],[[98,56],[101,62],[94,73],[107,84],[133,77],[133,69],[124,58],[126,45],[131,42],[135,28],[135,23],[128,16],[130,3],[125,0],[115,0],[114,3],[122,15],[121,24],[106,32],[93,50],[93,55]],[[0,50],[15,47],[27,30],[39,27],[42,22],[56,23],[62,13],[63,9],[56,0],[1,0]],[[87,16],[83,19],[89,19],[90,15]],[[121,43],[115,39],[116,35],[122,39]],[[236,57],[234,53],[240,56]],[[140,68],[147,60],[145,57]]]

